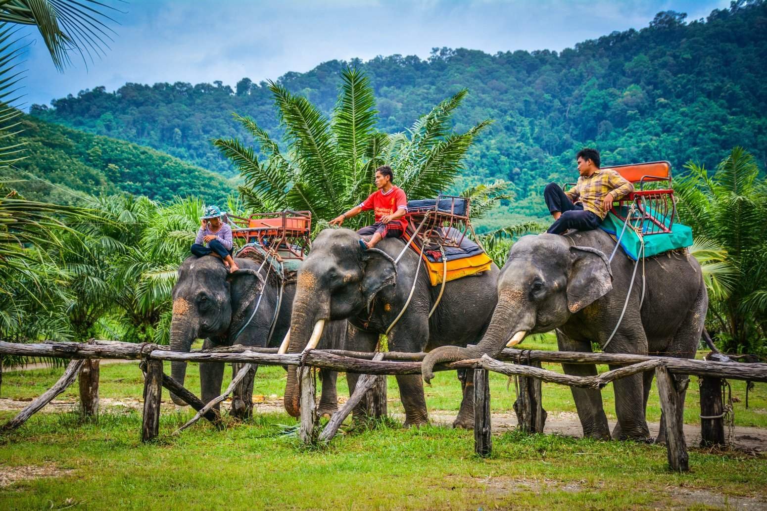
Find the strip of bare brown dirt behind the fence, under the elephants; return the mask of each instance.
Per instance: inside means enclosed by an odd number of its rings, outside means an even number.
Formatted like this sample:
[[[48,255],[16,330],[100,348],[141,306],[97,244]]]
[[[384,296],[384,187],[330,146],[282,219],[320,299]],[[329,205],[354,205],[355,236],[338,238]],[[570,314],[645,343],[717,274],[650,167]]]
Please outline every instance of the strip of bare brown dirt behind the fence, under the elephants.
[[[31,400],[30,400],[31,401]],[[223,406],[229,407],[227,400]],[[253,397],[254,406],[257,413],[272,413],[281,412],[285,410],[282,407],[282,398],[274,394],[271,396],[259,396]],[[341,397],[340,404],[343,404],[346,400]],[[29,404],[29,401],[15,401],[8,398],[0,398],[0,410],[21,410]],[[100,399],[100,407],[104,409],[112,410],[141,410],[143,402],[138,399],[112,399],[109,397],[102,397]],[[163,410],[173,411],[178,410],[180,407],[173,404],[171,401],[163,401]],[[47,407],[42,410],[44,413],[54,413],[60,411],[74,410],[77,408],[77,401],[51,401]],[[403,420],[404,417],[400,414],[393,414],[395,418]],[[456,412],[449,410],[436,410],[430,414],[430,419],[433,424],[439,424],[443,426],[449,426],[453,423],[453,419],[456,418]],[[517,418],[513,412],[509,413],[494,413],[492,414],[492,431],[494,434],[502,434],[505,431],[513,430],[517,425]],[[650,434],[655,437],[658,434],[659,424],[657,422],[648,423],[650,427]],[[611,429],[615,426],[615,421],[610,421]],[[545,433],[557,433],[566,435],[568,437],[582,437],[583,430],[581,430],[581,422],[578,420],[578,414],[573,412],[548,412],[546,417]],[[696,446],[700,444],[700,426],[693,424],[684,425],[684,434],[686,437],[687,445]],[[767,428],[761,427],[735,427],[735,434],[733,440],[733,447],[739,450],[753,450],[753,451],[767,451]]]

